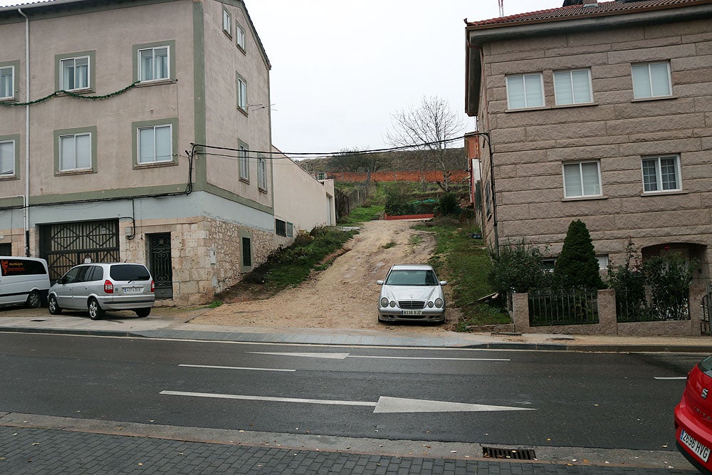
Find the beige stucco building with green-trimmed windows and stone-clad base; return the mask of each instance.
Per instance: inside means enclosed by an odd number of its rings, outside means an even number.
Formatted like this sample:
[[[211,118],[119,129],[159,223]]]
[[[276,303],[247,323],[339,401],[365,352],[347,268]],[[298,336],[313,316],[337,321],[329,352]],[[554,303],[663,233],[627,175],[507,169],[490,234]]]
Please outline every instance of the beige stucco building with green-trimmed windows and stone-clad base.
[[[0,44],[0,254],[52,278],[146,263],[157,299],[195,304],[275,249],[271,65],[243,1],[7,6]]]

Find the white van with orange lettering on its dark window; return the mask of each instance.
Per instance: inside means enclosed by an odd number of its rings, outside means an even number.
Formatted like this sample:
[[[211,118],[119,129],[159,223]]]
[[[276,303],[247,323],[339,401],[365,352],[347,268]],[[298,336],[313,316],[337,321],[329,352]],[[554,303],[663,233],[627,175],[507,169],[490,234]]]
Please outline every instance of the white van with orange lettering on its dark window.
[[[37,308],[47,303],[47,261],[35,257],[0,256],[0,306]]]

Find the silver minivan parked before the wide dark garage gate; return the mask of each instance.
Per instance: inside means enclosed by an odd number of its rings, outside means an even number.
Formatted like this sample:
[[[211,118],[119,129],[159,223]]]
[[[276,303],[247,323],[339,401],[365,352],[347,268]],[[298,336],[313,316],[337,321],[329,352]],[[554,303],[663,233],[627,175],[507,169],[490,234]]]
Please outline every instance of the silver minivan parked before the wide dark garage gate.
[[[132,310],[147,317],[155,303],[155,285],[146,266],[137,263],[85,263],[70,268],[49,289],[49,313],[84,310],[100,320],[106,310]]]

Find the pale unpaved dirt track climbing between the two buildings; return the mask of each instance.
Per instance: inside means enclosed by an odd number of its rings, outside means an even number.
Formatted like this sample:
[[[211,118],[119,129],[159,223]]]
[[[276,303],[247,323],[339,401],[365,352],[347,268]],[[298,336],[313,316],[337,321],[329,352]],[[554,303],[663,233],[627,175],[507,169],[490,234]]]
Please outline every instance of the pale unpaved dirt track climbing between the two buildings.
[[[369,221],[325,271],[295,288],[265,300],[227,303],[207,311],[192,323],[253,327],[349,328],[437,333],[449,328],[459,316],[446,310],[445,325],[386,325],[378,323],[376,281],[395,263],[427,263],[434,236],[411,229],[413,221]],[[414,236],[419,236],[415,238]],[[388,246],[393,242],[394,245]],[[384,249],[387,246],[388,249]],[[442,277],[441,277],[442,278]]]

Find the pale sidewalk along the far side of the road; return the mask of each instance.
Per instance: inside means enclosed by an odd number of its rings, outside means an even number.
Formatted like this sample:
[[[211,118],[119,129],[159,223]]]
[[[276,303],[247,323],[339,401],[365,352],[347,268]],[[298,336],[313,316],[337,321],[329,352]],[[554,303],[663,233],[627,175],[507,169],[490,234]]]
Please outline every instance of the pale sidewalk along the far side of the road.
[[[155,308],[150,317],[132,312],[108,313],[90,320],[85,313],[50,315],[46,309],[0,309],[0,331],[70,335],[127,336],[183,340],[293,343],[317,345],[483,348],[493,350],[573,350],[597,352],[712,353],[712,337],[617,337],[545,333],[418,332],[412,325],[384,330],[268,328],[199,325],[190,320],[207,308]]]

